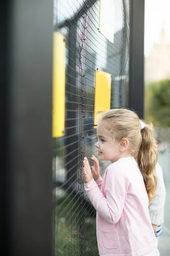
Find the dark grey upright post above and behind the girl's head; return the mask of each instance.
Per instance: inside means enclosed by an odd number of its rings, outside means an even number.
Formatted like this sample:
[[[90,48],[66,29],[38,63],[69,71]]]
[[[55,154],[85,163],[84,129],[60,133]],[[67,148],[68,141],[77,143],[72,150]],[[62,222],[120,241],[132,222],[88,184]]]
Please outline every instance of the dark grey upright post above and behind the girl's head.
[[[130,0],[129,108],[144,117],[144,0]]]

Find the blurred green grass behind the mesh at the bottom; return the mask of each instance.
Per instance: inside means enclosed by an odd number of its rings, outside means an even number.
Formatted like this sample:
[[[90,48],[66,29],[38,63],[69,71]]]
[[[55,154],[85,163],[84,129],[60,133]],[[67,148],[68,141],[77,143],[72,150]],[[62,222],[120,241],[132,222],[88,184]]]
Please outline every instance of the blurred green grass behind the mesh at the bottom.
[[[89,217],[88,209],[84,204],[80,211],[79,203],[77,197],[68,193],[56,198],[55,255],[79,256],[82,250],[84,256],[99,255],[96,241],[96,219]]]

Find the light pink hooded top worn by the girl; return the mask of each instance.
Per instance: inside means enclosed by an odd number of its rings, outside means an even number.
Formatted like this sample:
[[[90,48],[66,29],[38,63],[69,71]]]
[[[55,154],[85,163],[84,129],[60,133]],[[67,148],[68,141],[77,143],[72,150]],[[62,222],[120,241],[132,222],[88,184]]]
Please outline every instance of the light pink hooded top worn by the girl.
[[[142,174],[133,157],[108,166],[85,191],[94,205],[100,256],[142,256],[157,248]]]

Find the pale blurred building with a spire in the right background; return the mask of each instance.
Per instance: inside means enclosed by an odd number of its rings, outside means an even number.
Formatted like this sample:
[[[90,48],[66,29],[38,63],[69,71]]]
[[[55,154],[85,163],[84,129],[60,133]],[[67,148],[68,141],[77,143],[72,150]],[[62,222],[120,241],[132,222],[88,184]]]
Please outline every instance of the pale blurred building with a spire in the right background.
[[[144,79],[146,82],[170,79],[170,44],[167,44],[165,29],[161,30],[160,43],[154,44],[144,59]]]

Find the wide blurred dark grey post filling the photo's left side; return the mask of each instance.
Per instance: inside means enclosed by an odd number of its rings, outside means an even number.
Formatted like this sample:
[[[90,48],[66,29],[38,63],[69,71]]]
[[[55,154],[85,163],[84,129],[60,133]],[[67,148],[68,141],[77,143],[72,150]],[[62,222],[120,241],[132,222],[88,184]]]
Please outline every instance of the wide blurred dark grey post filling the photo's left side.
[[[51,256],[53,2],[2,3],[6,34],[0,47],[4,165],[0,232],[7,247],[1,240],[0,255]]]

